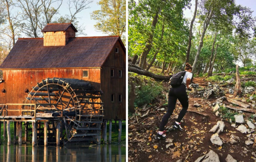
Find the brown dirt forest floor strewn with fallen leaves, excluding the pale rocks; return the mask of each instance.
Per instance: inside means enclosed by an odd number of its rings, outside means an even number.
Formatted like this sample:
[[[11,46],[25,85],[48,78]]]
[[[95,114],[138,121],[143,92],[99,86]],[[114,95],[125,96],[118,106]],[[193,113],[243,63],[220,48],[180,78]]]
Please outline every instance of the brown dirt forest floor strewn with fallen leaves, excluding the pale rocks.
[[[204,77],[198,77],[194,78],[193,82],[199,84],[200,88],[205,88],[208,86],[207,83],[209,81],[205,80]],[[214,85],[215,83],[211,82],[211,84]],[[163,93],[166,94],[169,90],[169,85],[167,82],[163,82],[163,86],[166,90]],[[227,98],[246,103],[246,95],[243,98],[233,98],[232,94],[228,94],[229,85],[226,84],[220,87],[225,92]],[[216,116],[212,104],[215,103],[217,98],[206,99],[194,97],[193,90],[192,92],[187,91],[187,93],[189,94],[189,108],[181,123],[184,130],[180,132],[171,129],[175,117],[182,109],[180,102],[177,100],[176,109],[165,128],[167,131],[166,139],[160,141],[155,139],[158,126],[167,110],[167,106],[163,106],[166,105],[163,104],[166,103],[166,99],[158,98],[150,104],[137,108],[135,115],[128,118],[129,161],[195,161],[198,157],[207,154],[210,150],[213,150],[219,156],[220,161],[226,161],[225,159],[228,154],[237,161],[256,161],[255,130],[251,133],[241,133],[235,127],[231,126],[229,119],[222,119]],[[255,94],[255,91],[253,93]],[[199,104],[200,106],[194,107],[194,104]],[[246,122],[246,119],[249,119],[254,113],[243,111],[242,114]],[[217,121],[221,120],[224,121],[225,128],[219,134],[223,145],[218,146],[211,143],[210,138],[214,133],[209,133],[209,130]],[[255,120],[252,123],[254,122]],[[248,127],[245,123],[244,125]],[[240,140],[235,144],[231,144],[231,134],[238,136]],[[251,136],[255,137],[254,144],[246,145],[245,141]]]

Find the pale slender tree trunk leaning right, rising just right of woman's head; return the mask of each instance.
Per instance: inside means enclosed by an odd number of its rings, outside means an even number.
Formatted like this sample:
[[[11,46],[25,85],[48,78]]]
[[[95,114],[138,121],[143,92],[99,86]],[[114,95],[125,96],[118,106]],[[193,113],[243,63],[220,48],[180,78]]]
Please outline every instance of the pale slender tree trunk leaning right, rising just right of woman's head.
[[[204,20],[204,28],[203,28],[203,32],[202,32],[202,35],[200,37],[200,41],[199,41],[199,45],[198,45],[198,48],[197,48],[197,52],[196,52],[196,56],[195,56],[195,60],[194,60],[194,63],[193,63],[193,66],[192,66],[192,73],[194,74],[195,73],[195,67],[196,67],[196,64],[197,64],[197,60],[199,58],[199,54],[201,52],[201,49],[203,47],[203,40],[204,40],[204,35],[205,35],[205,32],[206,32],[206,29],[210,23],[210,19],[212,18],[213,16],[213,12],[214,10],[211,11],[211,13],[208,13],[205,17],[205,20]]]

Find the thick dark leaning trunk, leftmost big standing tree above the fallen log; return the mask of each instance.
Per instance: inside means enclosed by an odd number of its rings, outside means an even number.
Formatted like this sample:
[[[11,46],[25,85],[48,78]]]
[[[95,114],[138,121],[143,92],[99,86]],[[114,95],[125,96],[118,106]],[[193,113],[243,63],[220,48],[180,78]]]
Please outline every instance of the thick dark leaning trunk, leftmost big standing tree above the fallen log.
[[[158,14],[159,14],[160,11],[161,10],[159,9],[158,12],[156,13],[155,17],[153,18],[152,26],[151,26],[152,29],[151,29],[149,38],[147,39],[145,48],[143,49],[143,52],[142,52],[141,57],[140,57],[139,66],[142,67],[142,68],[145,66],[145,59],[146,59],[147,54],[149,53],[149,51],[151,50],[151,47],[152,47],[152,40],[153,40],[153,36],[154,36],[154,30],[155,30],[155,27],[156,27],[156,24],[157,24]]]

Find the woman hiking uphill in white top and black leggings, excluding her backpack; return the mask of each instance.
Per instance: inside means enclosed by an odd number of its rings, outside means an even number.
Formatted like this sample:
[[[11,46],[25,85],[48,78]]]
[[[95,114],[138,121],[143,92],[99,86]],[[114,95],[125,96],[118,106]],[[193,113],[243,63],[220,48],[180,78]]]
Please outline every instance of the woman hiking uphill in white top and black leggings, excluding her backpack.
[[[189,107],[189,100],[188,95],[186,93],[186,87],[189,88],[190,80],[192,78],[192,66],[189,63],[186,63],[185,71],[186,72],[183,77],[182,84],[178,87],[170,88],[168,98],[168,110],[160,123],[159,131],[157,132],[157,139],[166,138],[164,127],[168,122],[173,110],[175,109],[177,98],[179,99],[182,105],[182,110],[180,111],[178,119],[174,122],[173,128],[183,131],[182,127],[180,126],[180,121],[186,114],[187,109]]]

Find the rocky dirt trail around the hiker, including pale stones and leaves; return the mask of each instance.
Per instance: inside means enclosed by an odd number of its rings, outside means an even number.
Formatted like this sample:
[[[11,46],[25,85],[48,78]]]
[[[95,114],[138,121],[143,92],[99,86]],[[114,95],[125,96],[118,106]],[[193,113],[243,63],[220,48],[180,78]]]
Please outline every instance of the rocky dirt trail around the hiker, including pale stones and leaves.
[[[255,101],[247,97],[255,95],[254,87],[243,88],[243,97],[234,98],[234,80],[215,83],[202,77],[193,82],[183,132],[172,130],[182,108],[179,101],[166,125],[167,138],[160,141],[155,135],[167,110],[165,98],[129,117],[129,161],[256,161]]]

